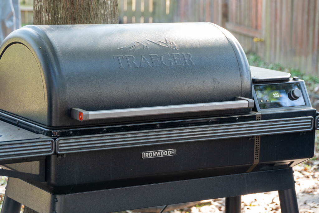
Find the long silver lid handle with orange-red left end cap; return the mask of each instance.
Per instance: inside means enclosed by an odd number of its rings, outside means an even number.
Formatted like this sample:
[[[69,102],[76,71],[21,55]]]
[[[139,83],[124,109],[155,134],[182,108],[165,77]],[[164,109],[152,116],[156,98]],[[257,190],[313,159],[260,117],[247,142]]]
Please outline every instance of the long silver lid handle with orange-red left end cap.
[[[202,112],[215,110],[234,110],[254,108],[254,100],[244,97],[236,97],[235,101],[224,101],[214,103],[194,103],[172,106],[141,107],[119,110],[86,111],[79,108],[71,108],[71,118],[79,121],[123,118],[145,115],[164,115],[172,113]]]

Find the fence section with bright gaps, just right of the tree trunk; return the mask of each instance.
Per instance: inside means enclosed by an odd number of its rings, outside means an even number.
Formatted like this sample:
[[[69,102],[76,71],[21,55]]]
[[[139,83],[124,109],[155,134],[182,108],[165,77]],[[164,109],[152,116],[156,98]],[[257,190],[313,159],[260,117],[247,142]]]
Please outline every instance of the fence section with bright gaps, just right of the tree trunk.
[[[223,0],[119,0],[120,23],[210,21],[222,25]]]

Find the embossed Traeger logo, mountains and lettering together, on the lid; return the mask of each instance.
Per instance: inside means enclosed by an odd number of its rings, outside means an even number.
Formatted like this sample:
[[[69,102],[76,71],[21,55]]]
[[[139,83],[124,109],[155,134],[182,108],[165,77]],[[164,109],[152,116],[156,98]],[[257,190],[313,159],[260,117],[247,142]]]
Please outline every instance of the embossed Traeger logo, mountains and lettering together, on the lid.
[[[118,49],[126,50],[130,52],[136,52],[140,49],[149,49],[150,46],[165,47],[169,49],[179,50],[177,44],[173,41],[169,41],[165,38],[165,42],[157,41],[154,42],[150,39],[145,39],[143,42],[132,42],[125,47]],[[152,49],[152,48],[151,48]],[[162,67],[164,66],[189,66],[195,65],[191,60],[192,56],[190,53],[163,53],[163,54],[141,54],[138,58],[133,55],[121,55],[113,56],[114,59],[118,60],[119,68],[139,68],[139,67]]]

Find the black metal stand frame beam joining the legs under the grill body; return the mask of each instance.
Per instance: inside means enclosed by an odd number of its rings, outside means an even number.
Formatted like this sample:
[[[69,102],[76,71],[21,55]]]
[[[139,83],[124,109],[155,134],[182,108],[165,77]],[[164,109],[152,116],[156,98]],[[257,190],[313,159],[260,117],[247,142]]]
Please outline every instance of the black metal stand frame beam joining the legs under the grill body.
[[[6,195],[38,212],[73,213],[81,209],[100,213],[291,188],[294,180],[288,168],[65,195],[50,194],[23,180],[9,178]]]

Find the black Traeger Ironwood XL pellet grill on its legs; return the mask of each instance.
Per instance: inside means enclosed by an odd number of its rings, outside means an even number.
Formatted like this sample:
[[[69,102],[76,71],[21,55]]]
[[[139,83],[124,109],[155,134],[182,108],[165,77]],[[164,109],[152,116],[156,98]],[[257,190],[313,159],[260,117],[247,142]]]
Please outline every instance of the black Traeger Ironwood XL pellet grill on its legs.
[[[314,154],[303,80],[211,23],[26,26],[0,47],[2,212],[113,212],[279,191]],[[251,72],[250,72],[251,71]],[[315,126],[315,127],[314,127]]]

